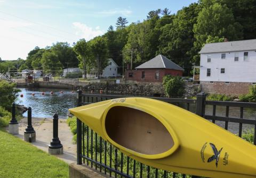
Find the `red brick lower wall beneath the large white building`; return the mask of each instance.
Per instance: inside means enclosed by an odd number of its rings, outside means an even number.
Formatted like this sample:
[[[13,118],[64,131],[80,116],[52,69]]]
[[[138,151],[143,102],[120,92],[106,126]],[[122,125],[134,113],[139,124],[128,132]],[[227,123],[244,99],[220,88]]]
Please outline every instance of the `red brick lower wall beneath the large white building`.
[[[200,81],[202,91],[217,94],[241,95],[249,92],[252,83],[249,82],[213,82]]]

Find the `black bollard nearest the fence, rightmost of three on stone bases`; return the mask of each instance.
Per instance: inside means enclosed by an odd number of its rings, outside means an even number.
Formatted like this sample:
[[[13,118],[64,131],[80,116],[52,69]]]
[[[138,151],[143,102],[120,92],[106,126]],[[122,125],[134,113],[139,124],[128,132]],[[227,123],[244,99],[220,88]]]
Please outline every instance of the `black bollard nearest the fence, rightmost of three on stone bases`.
[[[48,152],[51,155],[63,154],[63,146],[61,145],[58,137],[58,124],[59,124],[59,116],[58,114],[54,114],[53,115],[53,138],[48,147]]]

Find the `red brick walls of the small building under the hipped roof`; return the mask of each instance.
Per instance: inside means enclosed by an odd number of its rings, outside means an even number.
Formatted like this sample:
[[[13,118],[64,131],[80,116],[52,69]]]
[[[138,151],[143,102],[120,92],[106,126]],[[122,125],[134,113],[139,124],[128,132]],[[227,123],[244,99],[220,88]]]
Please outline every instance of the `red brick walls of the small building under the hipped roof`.
[[[142,71],[145,72],[145,79],[141,79]],[[133,73],[133,77],[129,77],[129,73]],[[159,79],[155,79],[156,72],[159,72]],[[126,70],[125,79],[135,80],[139,82],[162,82],[165,75],[182,76],[183,72],[179,70],[171,69],[138,69],[138,70]]]

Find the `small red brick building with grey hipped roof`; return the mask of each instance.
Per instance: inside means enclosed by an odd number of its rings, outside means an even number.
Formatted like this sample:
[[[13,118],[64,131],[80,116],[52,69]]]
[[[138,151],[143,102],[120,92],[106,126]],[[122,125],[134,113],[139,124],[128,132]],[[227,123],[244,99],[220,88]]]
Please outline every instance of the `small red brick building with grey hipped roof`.
[[[163,55],[135,67],[135,70],[126,70],[125,79],[139,82],[162,82],[165,75],[182,76],[184,69]]]

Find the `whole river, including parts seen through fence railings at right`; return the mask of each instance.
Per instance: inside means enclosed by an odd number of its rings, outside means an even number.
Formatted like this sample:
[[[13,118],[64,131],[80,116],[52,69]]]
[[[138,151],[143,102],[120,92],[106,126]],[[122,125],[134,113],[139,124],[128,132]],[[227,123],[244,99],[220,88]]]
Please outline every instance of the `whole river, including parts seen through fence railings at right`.
[[[19,96],[17,98],[17,103],[20,105],[30,106],[32,108],[33,117],[43,117],[52,118],[54,113],[59,114],[59,118],[68,118],[68,109],[76,107],[76,92],[71,92],[67,89],[47,89],[47,88],[19,88]],[[51,94],[53,91],[53,94]],[[61,94],[60,91],[63,91]],[[42,95],[42,92],[45,95]],[[23,97],[20,95],[23,94]],[[34,96],[32,94],[35,94]],[[186,107],[180,105],[180,107]],[[195,112],[195,104],[190,105],[190,111]],[[255,120],[255,109],[244,109],[244,118],[249,118]],[[207,115],[212,115],[212,106],[206,106],[205,113]],[[217,116],[226,115],[226,107],[217,106],[216,107]],[[229,116],[239,118],[240,109],[238,107],[229,108]],[[27,112],[23,114],[27,116]],[[225,127],[225,122],[216,121],[216,124]],[[254,128],[253,125],[243,124],[243,131]],[[229,123],[228,130],[233,133],[238,133],[239,123]]]

